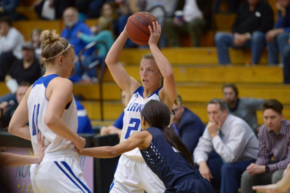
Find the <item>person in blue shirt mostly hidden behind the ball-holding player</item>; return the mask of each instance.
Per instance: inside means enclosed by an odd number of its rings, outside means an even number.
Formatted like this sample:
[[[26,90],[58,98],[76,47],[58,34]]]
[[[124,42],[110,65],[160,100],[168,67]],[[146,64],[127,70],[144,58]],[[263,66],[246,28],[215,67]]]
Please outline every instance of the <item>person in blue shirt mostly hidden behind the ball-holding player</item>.
[[[125,97],[126,93],[121,90],[121,101],[123,106],[125,107]],[[123,129],[123,117],[124,117],[124,110],[120,114],[120,116],[115,121],[114,125],[110,125],[108,127],[102,127],[100,131],[100,135],[109,135],[109,134],[118,134],[119,139],[121,138],[122,129]]]

